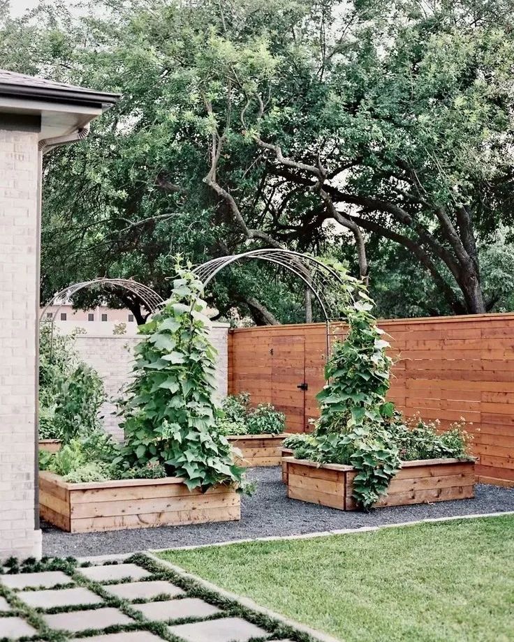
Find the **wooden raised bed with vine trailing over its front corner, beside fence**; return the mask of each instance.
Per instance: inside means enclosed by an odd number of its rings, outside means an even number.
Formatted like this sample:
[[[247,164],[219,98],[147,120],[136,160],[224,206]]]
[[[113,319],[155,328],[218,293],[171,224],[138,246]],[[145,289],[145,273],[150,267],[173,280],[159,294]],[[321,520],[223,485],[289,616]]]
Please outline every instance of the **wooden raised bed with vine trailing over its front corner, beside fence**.
[[[284,458],[288,497],[338,508],[356,510],[352,498],[353,466],[318,465],[311,461]],[[404,461],[391,480],[388,495],[380,506],[403,506],[425,502],[461,500],[475,496],[475,463],[460,459]]]

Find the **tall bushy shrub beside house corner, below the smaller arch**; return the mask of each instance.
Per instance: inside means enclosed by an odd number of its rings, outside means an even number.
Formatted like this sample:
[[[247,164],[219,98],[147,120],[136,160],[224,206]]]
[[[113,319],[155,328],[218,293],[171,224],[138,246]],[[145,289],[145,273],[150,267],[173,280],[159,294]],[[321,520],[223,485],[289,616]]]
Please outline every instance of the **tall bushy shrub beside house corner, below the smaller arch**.
[[[105,401],[98,374],[80,361],[73,336],[42,324],[39,357],[39,438],[64,443],[100,427]]]

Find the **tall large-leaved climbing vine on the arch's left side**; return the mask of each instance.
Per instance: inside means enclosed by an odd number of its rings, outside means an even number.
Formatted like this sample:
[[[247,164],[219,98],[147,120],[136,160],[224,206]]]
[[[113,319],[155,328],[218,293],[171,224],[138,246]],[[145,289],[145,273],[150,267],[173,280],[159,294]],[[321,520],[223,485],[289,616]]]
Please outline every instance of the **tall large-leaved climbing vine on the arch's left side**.
[[[170,299],[140,331],[134,378],[120,401],[128,468],[159,463],[187,486],[240,484],[228,440],[216,428],[216,350],[210,341],[203,285],[177,264]]]

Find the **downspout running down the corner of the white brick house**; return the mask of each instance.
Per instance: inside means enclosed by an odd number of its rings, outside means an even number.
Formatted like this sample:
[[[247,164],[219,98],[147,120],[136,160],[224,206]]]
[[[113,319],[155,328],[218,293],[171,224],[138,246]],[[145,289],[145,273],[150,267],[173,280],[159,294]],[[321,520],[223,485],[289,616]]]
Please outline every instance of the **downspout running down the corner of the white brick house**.
[[[89,123],[84,127],[75,129],[71,134],[66,136],[55,136],[53,138],[45,138],[38,142],[38,150],[41,152],[39,156],[39,202],[38,202],[38,266],[39,260],[41,257],[41,177],[43,176],[43,156],[47,154],[52,149],[56,147],[61,147],[61,145],[70,144],[72,142],[78,142],[79,140],[84,140],[87,135],[89,135]],[[39,267],[38,274],[36,277],[36,292],[38,293],[38,305],[36,311],[39,311],[39,287],[40,287],[40,275]],[[39,315],[38,315],[39,317]],[[35,417],[35,426],[36,430],[34,431],[34,449],[36,456],[34,459],[34,528],[35,530],[40,529],[39,523],[39,324],[38,331],[36,333],[36,417]]]

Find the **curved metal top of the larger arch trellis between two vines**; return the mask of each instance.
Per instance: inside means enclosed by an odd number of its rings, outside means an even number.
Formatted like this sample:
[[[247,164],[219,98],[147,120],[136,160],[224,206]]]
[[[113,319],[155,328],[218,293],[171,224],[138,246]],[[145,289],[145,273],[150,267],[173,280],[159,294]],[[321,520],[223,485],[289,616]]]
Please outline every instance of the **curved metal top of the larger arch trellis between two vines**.
[[[330,322],[344,320],[338,312],[341,301],[338,301],[335,286],[342,286],[340,292],[347,292],[347,290],[344,281],[341,276],[337,274],[337,271],[320,260],[306,254],[279,248],[263,248],[212,259],[195,267],[193,272],[198,276],[200,281],[202,281],[205,288],[224,267],[235,262],[250,259],[260,259],[288,269],[295,274],[295,276],[298,276],[307,288],[311,290],[325,316],[328,355],[330,353]],[[348,296],[353,299],[353,301],[355,300],[351,292],[348,292]]]

